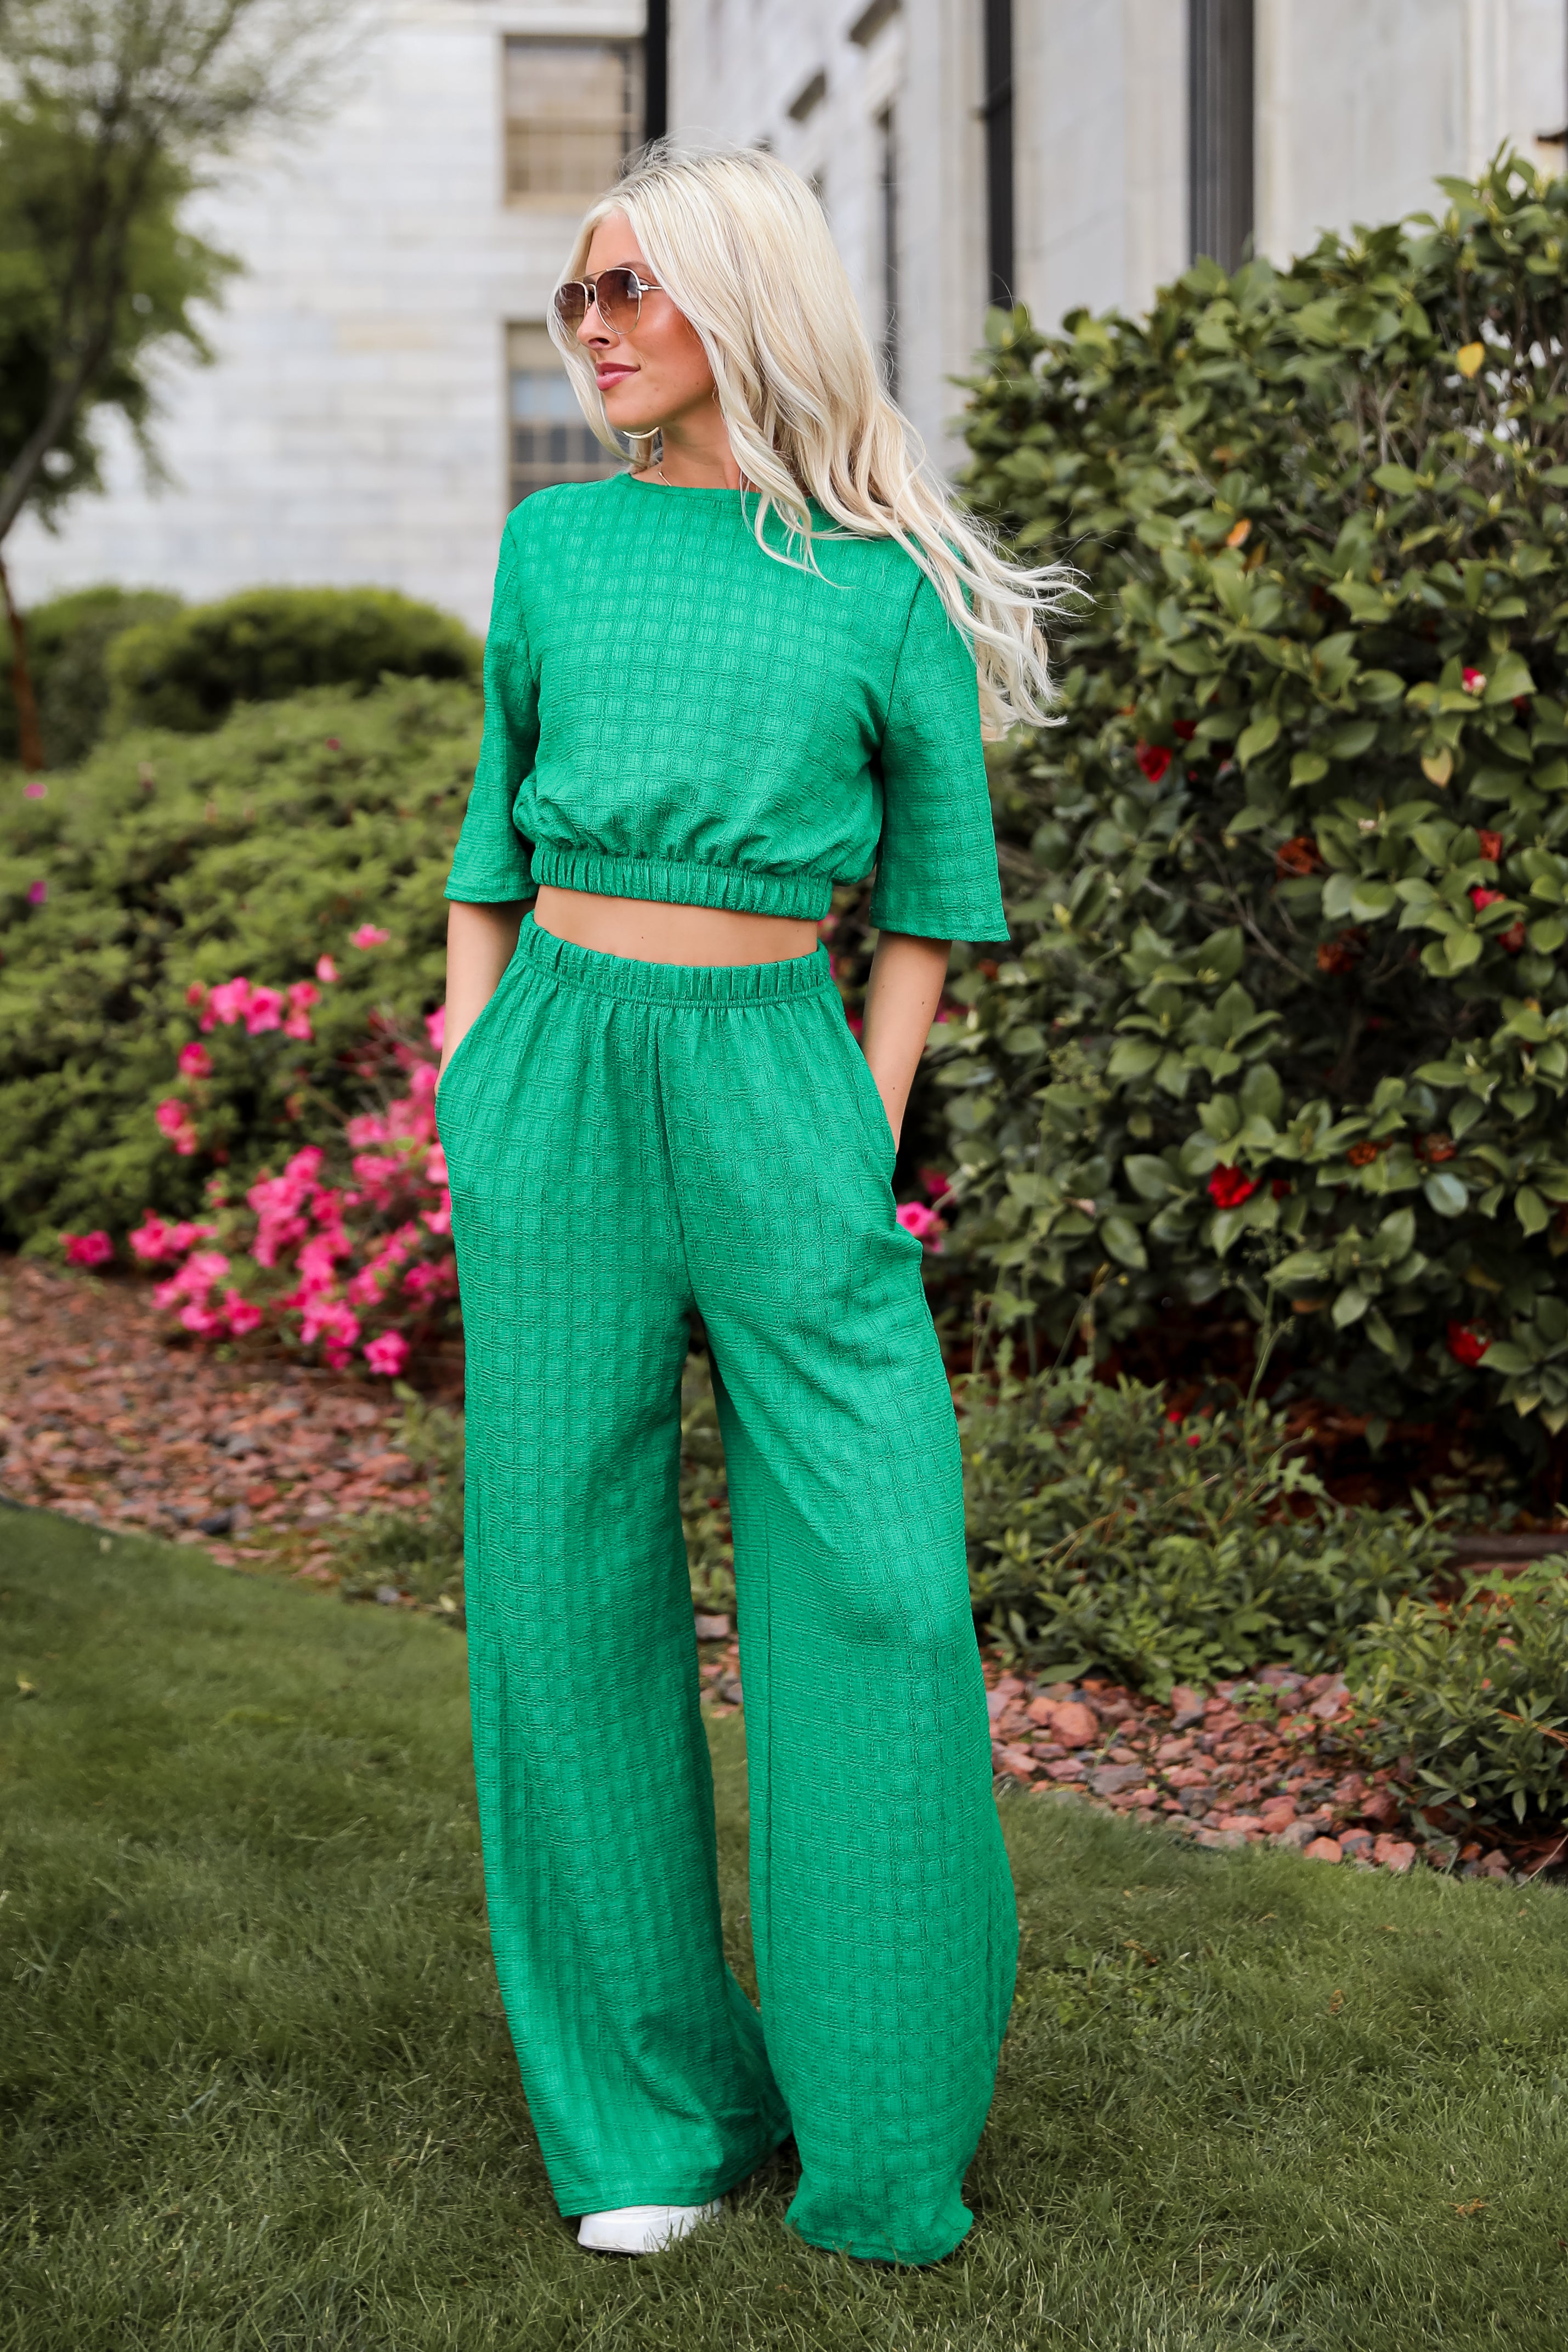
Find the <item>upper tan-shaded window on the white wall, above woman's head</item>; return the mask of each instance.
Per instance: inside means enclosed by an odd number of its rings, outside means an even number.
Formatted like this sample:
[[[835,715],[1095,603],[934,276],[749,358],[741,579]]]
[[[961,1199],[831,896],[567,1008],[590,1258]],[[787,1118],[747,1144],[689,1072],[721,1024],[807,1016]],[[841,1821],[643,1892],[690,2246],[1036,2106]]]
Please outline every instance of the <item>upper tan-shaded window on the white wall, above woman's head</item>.
[[[508,38],[508,202],[602,195],[639,139],[639,42]]]

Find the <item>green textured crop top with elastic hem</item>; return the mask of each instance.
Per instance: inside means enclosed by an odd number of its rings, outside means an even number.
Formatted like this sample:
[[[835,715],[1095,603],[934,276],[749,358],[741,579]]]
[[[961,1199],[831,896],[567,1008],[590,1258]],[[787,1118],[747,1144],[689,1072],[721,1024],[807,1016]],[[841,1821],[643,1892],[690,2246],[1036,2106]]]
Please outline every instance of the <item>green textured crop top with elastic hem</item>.
[[[731,489],[534,492],[501,541],[449,898],[541,882],[1006,938],[969,642],[891,539],[766,555]],[[776,543],[783,546],[783,524]]]

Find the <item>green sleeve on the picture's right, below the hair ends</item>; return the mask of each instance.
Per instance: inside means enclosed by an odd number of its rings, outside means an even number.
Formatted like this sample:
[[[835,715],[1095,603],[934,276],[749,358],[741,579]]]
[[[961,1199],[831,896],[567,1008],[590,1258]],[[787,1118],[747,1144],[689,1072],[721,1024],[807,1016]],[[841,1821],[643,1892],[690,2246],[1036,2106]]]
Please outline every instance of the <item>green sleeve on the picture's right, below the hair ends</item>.
[[[924,574],[882,734],[870,917],[917,938],[1006,938],[976,659]]]

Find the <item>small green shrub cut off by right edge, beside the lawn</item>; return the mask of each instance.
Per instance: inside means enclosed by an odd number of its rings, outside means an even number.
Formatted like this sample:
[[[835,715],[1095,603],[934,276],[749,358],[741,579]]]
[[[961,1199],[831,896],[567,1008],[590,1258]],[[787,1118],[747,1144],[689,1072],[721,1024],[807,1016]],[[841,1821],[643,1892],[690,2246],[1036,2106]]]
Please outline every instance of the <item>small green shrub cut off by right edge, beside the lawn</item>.
[[[1356,1644],[1352,1679],[1375,1719],[1366,1743],[1408,1759],[1436,1806],[1476,1820],[1568,1806],[1568,1576],[1542,1562],[1500,1581],[1481,1569],[1450,1599],[1380,1606]]]

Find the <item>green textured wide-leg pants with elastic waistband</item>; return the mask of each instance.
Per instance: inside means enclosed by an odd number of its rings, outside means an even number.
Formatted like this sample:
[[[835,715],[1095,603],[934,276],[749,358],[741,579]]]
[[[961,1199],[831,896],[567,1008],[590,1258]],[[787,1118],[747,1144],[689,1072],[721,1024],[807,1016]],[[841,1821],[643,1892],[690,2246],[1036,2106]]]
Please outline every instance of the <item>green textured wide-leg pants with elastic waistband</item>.
[[[952,1397],[823,950],[522,927],[440,1091],[468,1345],[491,1943],[562,2213],[703,2204],[931,2263],[1013,1994]],[[736,1529],[762,2018],[724,1966],[677,1508],[689,1317]]]

